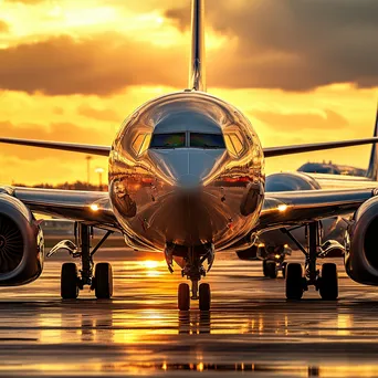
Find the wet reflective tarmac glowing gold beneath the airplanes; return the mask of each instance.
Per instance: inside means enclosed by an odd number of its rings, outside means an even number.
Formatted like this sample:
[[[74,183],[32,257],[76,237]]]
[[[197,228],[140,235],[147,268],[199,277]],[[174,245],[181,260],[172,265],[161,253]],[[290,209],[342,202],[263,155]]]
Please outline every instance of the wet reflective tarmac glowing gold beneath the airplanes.
[[[179,269],[134,256],[98,253],[113,264],[111,301],[60,300],[63,256],[36,282],[0,288],[0,376],[378,377],[378,288],[350,281],[340,260],[337,302],[312,288],[286,302],[260,262],[219,255],[212,311],[180,313]]]

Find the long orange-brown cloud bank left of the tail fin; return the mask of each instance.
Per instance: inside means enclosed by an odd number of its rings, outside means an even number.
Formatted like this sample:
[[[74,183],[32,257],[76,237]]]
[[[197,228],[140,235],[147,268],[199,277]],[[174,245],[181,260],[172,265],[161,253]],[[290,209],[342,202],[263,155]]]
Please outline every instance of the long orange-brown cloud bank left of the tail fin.
[[[109,95],[129,85],[186,86],[187,60],[172,49],[107,33],[59,36],[0,50],[3,90]]]

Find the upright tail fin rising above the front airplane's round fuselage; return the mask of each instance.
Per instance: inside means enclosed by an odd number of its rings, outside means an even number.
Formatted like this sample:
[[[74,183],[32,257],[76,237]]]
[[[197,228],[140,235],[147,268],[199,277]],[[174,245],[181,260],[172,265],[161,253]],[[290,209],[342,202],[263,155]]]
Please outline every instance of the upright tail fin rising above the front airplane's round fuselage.
[[[204,0],[192,0],[189,88],[206,92]]]

